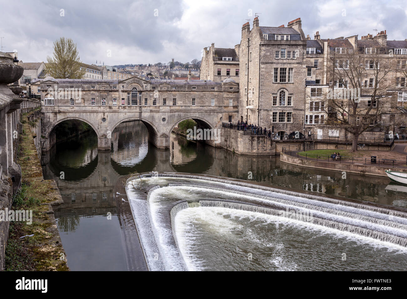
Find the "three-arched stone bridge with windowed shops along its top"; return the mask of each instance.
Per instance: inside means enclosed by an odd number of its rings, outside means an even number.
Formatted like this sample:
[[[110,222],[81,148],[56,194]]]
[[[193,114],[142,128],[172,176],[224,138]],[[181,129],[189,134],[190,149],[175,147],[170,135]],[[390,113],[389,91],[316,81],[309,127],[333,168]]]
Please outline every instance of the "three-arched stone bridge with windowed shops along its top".
[[[118,124],[142,121],[149,142],[169,148],[169,136],[182,120],[193,119],[202,129],[220,129],[237,121],[239,84],[206,80],[83,80],[46,78],[41,82],[43,149],[55,144],[55,127],[65,120],[81,120],[98,136],[98,149],[111,149]],[[221,146],[206,140],[212,146]]]

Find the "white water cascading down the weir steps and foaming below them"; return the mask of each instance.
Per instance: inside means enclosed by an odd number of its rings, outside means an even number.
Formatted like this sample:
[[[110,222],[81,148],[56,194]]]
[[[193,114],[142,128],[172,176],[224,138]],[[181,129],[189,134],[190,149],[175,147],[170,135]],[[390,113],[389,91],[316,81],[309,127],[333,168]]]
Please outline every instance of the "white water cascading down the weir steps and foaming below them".
[[[274,249],[286,248],[287,244],[284,242],[276,245],[278,238],[275,239],[275,237],[279,236],[278,227],[280,226],[299,240],[303,237],[303,232],[299,234],[296,229],[301,227],[302,230],[308,231],[306,234],[309,234],[309,231],[317,231],[313,233],[313,238],[316,240],[326,239],[326,236],[329,236],[329,242],[341,240],[339,246],[341,250],[346,250],[346,246],[357,242],[357,246],[352,249],[354,254],[360,254],[365,247],[379,248],[374,250],[380,252],[386,248],[388,253],[385,255],[392,258],[397,254],[395,261],[407,261],[405,248],[407,214],[401,211],[213,177],[179,174],[140,177],[143,191],[136,191],[131,187],[127,191],[140,238],[147,238],[141,243],[151,270],[217,270],[218,268],[212,266],[214,258],[219,254],[229,256],[225,247],[234,246],[233,244],[239,244],[239,242],[245,243],[247,250],[256,252],[256,255],[260,254],[262,256],[259,258],[260,264],[267,268],[271,253],[267,251],[267,247],[258,248],[257,245],[253,245],[254,247],[250,249],[249,240],[262,236],[274,244]],[[158,184],[160,186],[157,186]],[[146,190],[148,190],[147,194]],[[147,204],[140,205],[137,202],[143,200]],[[220,220],[221,214],[223,218],[230,219]],[[235,219],[232,215],[239,215],[239,217]],[[252,217],[255,220],[241,223],[239,219],[245,217]],[[212,218],[218,219],[217,223],[208,220]],[[264,221],[269,224],[263,225]],[[253,227],[253,223],[257,222],[260,223],[259,227],[270,226],[274,234],[270,235],[256,226]],[[277,228],[276,223],[280,223]],[[216,231],[228,231],[228,225],[238,227],[235,229],[237,237],[226,238],[225,233],[225,242],[222,244],[222,239],[217,239],[219,236]],[[216,229],[213,229],[214,227]],[[248,233],[248,231],[251,232]],[[282,237],[279,236],[279,238]],[[344,241],[346,238],[352,242]],[[324,242],[328,241],[324,240]],[[324,244],[317,242],[314,247],[322,247]],[[314,247],[308,250],[313,251]],[[197,252],[198,249],[208,252],[202,256]],[[151,252],[151,250],[157,252]],[[276,252],[273,256],[272,264],[281,264],[282,257]],[[295,259],[291,254],[286,253],[286,256]],[[321,256],[322,260],[331,258],[326,255]],[[229,269],[228,265],[225,264],[225,268]],[[313,266],[308,263],[303,265],[293,261],[286,263],[288,268],[293,269],[306,269],[305,265],[313,269]],[[372,265],[369,265],[366,260],[363,267],[368,269]],[[234,270],[236,269],[244,269],[244,263],[236,263]],[[260,268],[256,266],[253,268],[251,264],[247,269],[259,270]],[[357,269],[354,268],[354,270]]]

